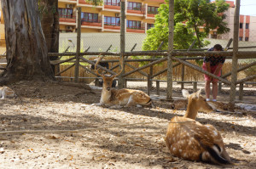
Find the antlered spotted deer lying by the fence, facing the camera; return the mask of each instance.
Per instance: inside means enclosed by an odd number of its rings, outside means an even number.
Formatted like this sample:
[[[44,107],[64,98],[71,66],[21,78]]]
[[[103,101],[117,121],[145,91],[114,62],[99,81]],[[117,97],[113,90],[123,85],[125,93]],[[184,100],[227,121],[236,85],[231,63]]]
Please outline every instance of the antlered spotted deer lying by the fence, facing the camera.
[[[100,59],[97,60],[95,68],[97,67],[98,63],[102,60],[103,56],[100,57]],[[120,65],[122,65],[120,63]],[[96,69],[96,74],[98,76],[102,76],[103,80],[103,86],[102,86],[102,96],[100,104],[105,106],[125,106],[129,107],[132,105],[144,105],[149,106],[152,104],[152,100],[148,96],[148,94],[143,93],[139,90],[132,90],[128,88],[123,89],[114,89],[112,88],[113,79],[116,76],[119,76],[122,72],[123,67],[121,68],[120,72],[117,75],[103,75],[100,74],[98,71],[99,69]]]

